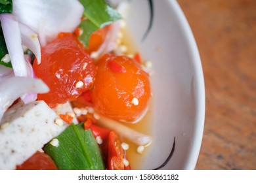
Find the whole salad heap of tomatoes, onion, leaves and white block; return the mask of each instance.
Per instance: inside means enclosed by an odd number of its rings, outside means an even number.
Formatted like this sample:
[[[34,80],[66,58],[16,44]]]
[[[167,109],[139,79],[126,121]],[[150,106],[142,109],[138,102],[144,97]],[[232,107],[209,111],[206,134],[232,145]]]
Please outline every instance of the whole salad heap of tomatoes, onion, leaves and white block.
[[[127,4],[1,1],[0,168],[131,169],[152,137],[149,73],[122,44]]]

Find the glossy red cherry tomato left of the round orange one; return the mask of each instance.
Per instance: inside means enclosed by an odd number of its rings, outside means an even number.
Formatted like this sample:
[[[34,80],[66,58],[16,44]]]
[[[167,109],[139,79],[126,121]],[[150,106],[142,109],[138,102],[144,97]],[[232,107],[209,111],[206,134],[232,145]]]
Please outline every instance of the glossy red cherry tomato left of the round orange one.
[[[89,90],[95,80],[95,65],[89,53],[70,33],[60,33],[53,42],[41,49],[41,64],[33,64],[35,75],[50,88],[49,93],[39,94],[54,107],[58,103],[74,101]]]

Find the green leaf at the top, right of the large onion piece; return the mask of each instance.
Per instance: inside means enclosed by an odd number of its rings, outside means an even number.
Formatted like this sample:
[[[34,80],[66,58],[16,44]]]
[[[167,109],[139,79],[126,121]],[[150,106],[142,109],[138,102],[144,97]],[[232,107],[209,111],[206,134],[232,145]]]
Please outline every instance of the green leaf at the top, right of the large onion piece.
[[[103,0],[79,1],[85,8],[83,15],[87,18],[79,25],[79,28],[83,31],[79,40],[88,47],[91,33],[121,19],[121,15]]]

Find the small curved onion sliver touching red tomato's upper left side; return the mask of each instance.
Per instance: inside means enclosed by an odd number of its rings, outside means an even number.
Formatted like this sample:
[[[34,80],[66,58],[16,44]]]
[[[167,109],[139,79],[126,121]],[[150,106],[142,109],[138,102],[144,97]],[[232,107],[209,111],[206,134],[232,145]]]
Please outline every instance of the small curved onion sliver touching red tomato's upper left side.
[[[20,26],[20,34],[22,39],[22,45],[29,48],[35,57],[37,58],[37,64],[41,63],[41,47],[37,37],[30,27],[22,23],[18,24]]]

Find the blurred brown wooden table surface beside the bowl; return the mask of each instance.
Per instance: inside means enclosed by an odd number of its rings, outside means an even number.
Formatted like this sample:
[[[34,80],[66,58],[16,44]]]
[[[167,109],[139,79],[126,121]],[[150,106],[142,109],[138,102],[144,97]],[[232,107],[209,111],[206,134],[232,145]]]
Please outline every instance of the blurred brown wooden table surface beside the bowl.
[[[256,169],[256,1],[178,0],[205,78],[196,169]]]

